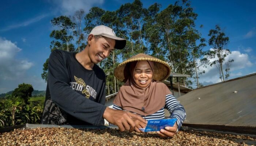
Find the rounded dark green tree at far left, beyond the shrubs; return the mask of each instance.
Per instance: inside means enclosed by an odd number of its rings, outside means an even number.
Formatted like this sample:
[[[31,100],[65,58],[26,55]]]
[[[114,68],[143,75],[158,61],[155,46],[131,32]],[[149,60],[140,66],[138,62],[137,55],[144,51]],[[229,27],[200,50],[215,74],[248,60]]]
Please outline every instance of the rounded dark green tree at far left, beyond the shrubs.
[[[12,92],[13,97],[20,97],[22,98],[25,103],[28,103],[29,97],[32,96],[32,92],[34,91],[32,85],[30,84],[19,84],[18,88],[14,89]]]

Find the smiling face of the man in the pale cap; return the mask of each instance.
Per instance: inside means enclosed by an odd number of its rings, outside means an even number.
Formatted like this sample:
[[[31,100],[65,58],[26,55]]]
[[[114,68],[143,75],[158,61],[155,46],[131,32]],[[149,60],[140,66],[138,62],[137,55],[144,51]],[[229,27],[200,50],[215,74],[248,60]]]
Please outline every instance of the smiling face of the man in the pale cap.
[[[114,51],[114,46],[116,41],[114,39],[100,37],[98,39],[93,38],[90,40],[89,57],[91,62],[97,64],[103,59],[107,58],[112,51]]]

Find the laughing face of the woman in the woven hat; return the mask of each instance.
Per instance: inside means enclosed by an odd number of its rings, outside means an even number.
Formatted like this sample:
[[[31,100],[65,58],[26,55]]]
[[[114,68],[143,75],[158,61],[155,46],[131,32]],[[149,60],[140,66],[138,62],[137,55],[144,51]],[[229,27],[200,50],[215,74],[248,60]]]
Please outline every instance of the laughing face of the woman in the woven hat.
[[[134,70],[133,77],[134,77],[135,83],[139,87],[144,88],[151,83],[153,78],[153,70],[151,69],[147,61],[138,62]]]

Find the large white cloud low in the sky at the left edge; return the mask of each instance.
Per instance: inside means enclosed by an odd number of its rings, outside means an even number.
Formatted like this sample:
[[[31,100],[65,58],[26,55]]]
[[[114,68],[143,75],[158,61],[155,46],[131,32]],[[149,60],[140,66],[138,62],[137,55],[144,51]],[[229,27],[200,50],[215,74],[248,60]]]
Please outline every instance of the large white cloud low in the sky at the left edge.
[[[45,90],[46,83],[41,78],[27,75],[34,64],[27,59],[17,59],[19,51],[22,49],[15,43],[0,37],[0,93],[14,90],[23,82],[34,89]]]

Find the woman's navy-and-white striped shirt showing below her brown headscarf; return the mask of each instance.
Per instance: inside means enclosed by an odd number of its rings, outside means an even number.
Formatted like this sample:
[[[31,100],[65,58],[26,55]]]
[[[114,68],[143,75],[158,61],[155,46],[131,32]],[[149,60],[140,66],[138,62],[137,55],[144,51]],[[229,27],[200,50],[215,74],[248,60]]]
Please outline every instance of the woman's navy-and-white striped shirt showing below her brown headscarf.
[[[172,94],[166,95],[165,106],[162,107],[159,111],[157,111],[151,115],[147,115],[147,116],[140,115],[140,116],[142,116],[142,118],[144,118],[146,120],[165,119],[164,108],[166,108],[170,112],[169,118],[177,119],[178,129],[180,129],[182,122],[186,118],[186,112],[185,112],[184,107],[180,104],[180,102]],[[123,110],[123,108],[119,107],[116,104],[113,105],[113,109]],[[113,124],[110,124],[110,125],[113,125]]]

